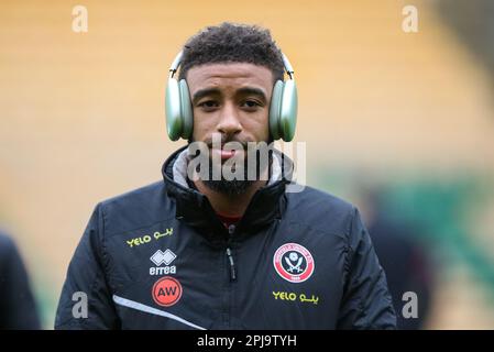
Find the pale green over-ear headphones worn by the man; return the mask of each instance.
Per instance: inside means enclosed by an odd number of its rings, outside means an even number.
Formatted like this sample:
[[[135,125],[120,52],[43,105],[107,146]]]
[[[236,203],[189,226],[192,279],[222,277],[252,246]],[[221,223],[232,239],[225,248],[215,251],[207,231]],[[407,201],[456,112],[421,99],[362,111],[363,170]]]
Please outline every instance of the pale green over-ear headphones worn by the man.
[[[185,79],[179,81],[173,76],[180,66],[183,52],[178,53],[169,67],[168,84],[166,86],[165,112],[166,129],[172,141],[179,138],[188,140],[193,135],[194,117],[190,95]],[[273,88],[270,107],[270,133],[273,140],[285,142],[293,140],[297,123],[297,86],[294,70],[288,58],[282,54],[285,70],[289,80],[277,80]]]

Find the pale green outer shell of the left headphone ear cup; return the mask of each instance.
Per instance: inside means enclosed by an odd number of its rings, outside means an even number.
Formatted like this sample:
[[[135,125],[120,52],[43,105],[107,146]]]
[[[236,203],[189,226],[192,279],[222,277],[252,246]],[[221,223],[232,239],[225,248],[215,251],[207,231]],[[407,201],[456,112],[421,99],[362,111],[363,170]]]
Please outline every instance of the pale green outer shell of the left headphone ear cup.
[[[176,141],[182,134],[182,103],[178,81],[175,78],[168,78],[166,85],[165,114],[168,138]]]

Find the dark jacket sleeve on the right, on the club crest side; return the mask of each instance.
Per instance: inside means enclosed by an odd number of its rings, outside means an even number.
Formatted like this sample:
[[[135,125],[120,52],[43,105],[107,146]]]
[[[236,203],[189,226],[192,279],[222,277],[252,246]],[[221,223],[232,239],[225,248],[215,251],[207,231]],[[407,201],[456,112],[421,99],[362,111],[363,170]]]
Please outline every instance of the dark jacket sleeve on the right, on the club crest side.
[[[396,329],[396,316],[367,230],[353,209],[338,329]]]

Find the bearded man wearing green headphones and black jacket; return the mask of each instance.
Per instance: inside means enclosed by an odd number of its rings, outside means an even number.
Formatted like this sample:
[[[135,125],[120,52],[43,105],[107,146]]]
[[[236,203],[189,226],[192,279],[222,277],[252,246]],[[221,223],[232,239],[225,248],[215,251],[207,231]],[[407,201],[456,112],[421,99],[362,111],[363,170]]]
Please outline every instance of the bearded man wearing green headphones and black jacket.
[[[172,154],[164,182],[96,207],[55,328],[395,327],[354,207],[309,187],[287,193],[290,162],[277,151],[263,166],[255,148],[254,177],[242,177],[252,176],[249,144],[293,138],[296,89],[284,69],[293,78],[270,32],[256,26],[223,23],[188,41],[171,68],[167,127],[172,140],[199,147]],[[206,163],[196,164],[201,153]],[[226,169],[238,177],[215,178],[233,158]],[[87,296],[87,315],[74,315],[75,293]]]

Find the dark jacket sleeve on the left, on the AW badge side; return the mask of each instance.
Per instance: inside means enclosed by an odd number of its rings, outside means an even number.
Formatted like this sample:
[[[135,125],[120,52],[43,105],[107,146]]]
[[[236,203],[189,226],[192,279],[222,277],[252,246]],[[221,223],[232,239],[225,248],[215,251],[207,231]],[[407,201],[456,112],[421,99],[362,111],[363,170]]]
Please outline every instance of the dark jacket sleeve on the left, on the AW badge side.
[[[98,205],[68,266],[55,329],[119,328],[105,270],[103,233],[105,219]]]

